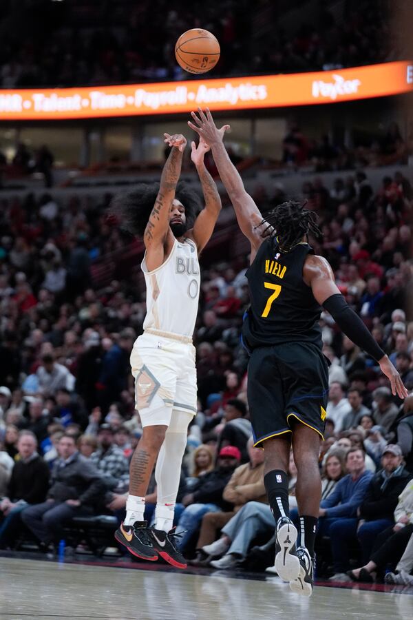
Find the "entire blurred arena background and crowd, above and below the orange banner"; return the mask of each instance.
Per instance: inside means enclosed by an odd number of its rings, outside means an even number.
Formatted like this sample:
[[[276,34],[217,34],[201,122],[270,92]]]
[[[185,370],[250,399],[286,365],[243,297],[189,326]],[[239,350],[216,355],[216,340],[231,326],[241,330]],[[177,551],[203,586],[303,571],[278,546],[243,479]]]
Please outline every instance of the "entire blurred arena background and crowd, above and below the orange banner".
[[[408,59],[409,21],[394,14],[396,4],[403,14],[409,1],[3,0],[0,88],[193,79],[173,47],[197,26],[221,44],[207,79]],[[316,253],[411,392],[413,124],[402,97],[304,106],[294,116],[285,108],[216,116],[231,123],[231,160],[264,215],[286,198],[317,213],[324,237],[311,240]],[[144,248],[107,208],[132,183],[158,180],[163,132],[188,132],[186,121],[1,124],[0,550],[123,553],[113,533],[142,432],[129,355],[146,311]],[[195,184],[189,150],[182,176]],[[176,531],[195,566],[271,572],[274,520],[263,452],[251,441],[240,344],[248,244],[211,154],[205,162],[224,208],[201,257],[198,413]],[[321,327],[330,393],[317,575],[412,585],[413,396],[392,395],[377,362],[328,313]],[[296,473],[292,453],[294,519]],[[151,524],[154,477],[146,500]],[[42,517],[44,502],[54,507]]]

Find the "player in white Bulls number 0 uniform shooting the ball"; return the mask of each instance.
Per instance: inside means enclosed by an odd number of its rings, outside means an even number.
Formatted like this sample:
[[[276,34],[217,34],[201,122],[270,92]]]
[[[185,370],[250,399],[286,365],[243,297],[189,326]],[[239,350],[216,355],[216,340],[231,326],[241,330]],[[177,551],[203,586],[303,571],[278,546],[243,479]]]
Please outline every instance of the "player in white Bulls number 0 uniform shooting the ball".
[[[143,433],[131,459],[127,513],[116,539],[142,559],[160,555],[178,568],[187,566],[171,532],[187,429],[197,413],[195,347],[192,334],[198,313],[198,254],[207,244],[221,209],[218,189],[204,166],[209,147],[191,144],[205,207],[198,194],[178,183],[184,136],[165,134],[172,147],[160,185],[140,186],[114,200],[112,212],[122,227],[143,237],[142,271],[147,286],[143,333],[131,352],[136,409]],[[144,521],[145,495],[156,462],[158,502],[155,524]]]

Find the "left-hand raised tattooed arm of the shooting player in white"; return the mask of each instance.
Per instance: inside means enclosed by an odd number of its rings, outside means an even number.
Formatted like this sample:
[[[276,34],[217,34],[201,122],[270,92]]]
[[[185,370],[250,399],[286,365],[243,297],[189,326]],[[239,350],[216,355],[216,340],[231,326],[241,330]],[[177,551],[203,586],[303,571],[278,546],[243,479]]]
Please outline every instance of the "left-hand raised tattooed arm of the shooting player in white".
[[[143,236],[146,247],[145,260],[149,271],[162,265],[173,245],[173,235],[169,227],[169,210],[173,198],[175,198],[176,184],[180,177],[182,153],[187,145],[184,136],[178,134],[164,135],[165,142],[172,149],[162,170],[158,196],[156,196]]]

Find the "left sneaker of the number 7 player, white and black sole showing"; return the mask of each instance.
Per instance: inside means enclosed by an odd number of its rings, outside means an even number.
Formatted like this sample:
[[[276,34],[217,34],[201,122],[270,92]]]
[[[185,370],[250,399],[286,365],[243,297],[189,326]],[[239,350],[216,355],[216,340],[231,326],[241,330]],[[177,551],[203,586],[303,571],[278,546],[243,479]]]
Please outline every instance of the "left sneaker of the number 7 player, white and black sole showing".
[[[275,528],[275,570],[284,581],[294,581],[300,572],[295,553],[297,528],[288,517],[279,517]]]

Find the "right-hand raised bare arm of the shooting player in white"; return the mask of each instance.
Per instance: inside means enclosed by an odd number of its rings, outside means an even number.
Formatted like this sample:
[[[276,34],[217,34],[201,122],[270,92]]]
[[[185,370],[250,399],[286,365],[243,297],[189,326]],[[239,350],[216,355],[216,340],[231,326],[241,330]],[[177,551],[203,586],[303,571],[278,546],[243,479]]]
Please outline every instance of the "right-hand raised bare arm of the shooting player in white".
[[[209,151],[209,146],[200,137],[198,147],[195,147],[195,142],[193,142],[191,143],[191,149],[191,159],[200,177],[205,207],[198,215],[198,218],[196,218],[193,229],[188,231],[187,236],[195,241],[198,252],[200,252],[207,245],[213,233],[215,223],[221,211],[221,198],[215,181],[204,165],[204,154]]]

